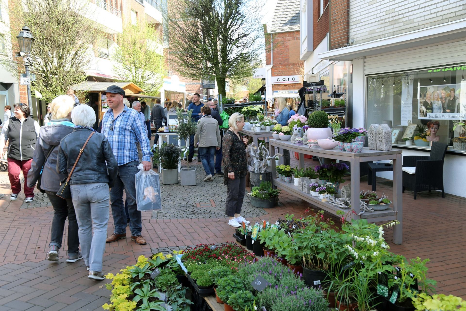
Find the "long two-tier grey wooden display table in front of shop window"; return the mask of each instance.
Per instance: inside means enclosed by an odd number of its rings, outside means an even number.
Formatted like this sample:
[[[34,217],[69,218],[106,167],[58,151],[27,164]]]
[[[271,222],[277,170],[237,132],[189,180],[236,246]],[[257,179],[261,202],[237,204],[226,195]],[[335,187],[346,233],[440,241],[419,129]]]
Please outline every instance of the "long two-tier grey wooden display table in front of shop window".
[[[288,149],[290,151],[298,152],[302,155],[308,154],[316,157],[322,157],[327,159],[336,159],[348,161],[351,165],[351,198],[357,198],[359,202],[359,163],[360,162],[372,162],[380,160],[393,160],[393,198],[391,198],[392,207],[384,211],[374,211],[374,212],[365,212],[362,215],[359,214],[359,204],[352,204],[352,209],[355,210],[356,214],[350,214],[351,218],[354,219],[367,219],[369,222],[379,222],[379,221],[392,221],[397,220],[400,222],[399,225],[393,227],[393,242],[395,244],[402,243],[402,228],[403,228],[403,202],[402,202],[402,154],[400,149],[393,149],[389,151],[377,151],[370,150],[367,147],[363,148],[361,153],[355,152],[342,152],[338,148],[334,149],[322,149],[322,148],[309,148],[307,145],[297,146],[292,144],[289,140],[282,141],[276,139],[269,139],[269,150],[270,156],[274,156],[275,148]],[[300,159],[304,157],[300,155]],[[307,194],[303,191],[298,190],[292,183],[288,184],[282,180],[276,179],[275,171],[275,161],[270,161],[272,166],[272,182],[275,187],[286,190],[291,194],[295,194],[297,197],[302,200],[306,200],[313,205],[326,210],[329,213],[335,214],[337,211],[343,211],[345,214],[349,212],[350,209],[343,209],[331,205],[328,202],[322,202],[313,197],[311,194]],[[304,160],[300,160],[299,167],[304,167]]]

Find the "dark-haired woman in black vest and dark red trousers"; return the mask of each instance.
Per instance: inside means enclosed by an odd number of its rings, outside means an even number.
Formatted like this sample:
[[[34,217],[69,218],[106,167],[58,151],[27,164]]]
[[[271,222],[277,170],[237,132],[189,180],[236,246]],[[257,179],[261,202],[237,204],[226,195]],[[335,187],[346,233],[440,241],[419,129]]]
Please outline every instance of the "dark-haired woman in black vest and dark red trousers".
[[[21,191],[20,172],[24,176],[25,202],[34,200],[34,187],[27,187],[27,172],[31,169],[32,155],[39,136],[40,126],[30,115],[27,104],[14,104],[14,117],[9,118],[1,130],[0,158],[3,158],[3,148],[8,140],[8,177],[10,179],[10,200],[18,198]]]

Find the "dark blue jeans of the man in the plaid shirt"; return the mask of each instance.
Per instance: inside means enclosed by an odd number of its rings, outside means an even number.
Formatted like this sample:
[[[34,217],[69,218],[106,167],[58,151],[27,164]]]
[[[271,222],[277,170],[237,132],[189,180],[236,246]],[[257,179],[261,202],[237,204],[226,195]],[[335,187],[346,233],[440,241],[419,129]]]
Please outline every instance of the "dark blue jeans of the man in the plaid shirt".
[[[130,230],[132,236],[141,235],[142,220],[141,212],[136,207],[136,181],[134,175],[139,171],[139,161],[131,161],[118,166],[118,175],[115,185],[110,190],[110,206],[112,207],[113,222],[115,224],[114,234],[126,233],[126,213],[123,204],[123,189],[128,201],[128,212],[130,214]]]

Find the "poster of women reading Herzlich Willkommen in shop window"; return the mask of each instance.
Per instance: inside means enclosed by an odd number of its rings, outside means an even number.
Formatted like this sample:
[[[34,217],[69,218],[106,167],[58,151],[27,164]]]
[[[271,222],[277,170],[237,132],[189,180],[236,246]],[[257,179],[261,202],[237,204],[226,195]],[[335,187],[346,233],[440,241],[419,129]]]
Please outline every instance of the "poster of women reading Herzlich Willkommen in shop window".
[[[459,120],[464,117],[460,98],[464,97],[461,84],[419,86],[418,119]]]

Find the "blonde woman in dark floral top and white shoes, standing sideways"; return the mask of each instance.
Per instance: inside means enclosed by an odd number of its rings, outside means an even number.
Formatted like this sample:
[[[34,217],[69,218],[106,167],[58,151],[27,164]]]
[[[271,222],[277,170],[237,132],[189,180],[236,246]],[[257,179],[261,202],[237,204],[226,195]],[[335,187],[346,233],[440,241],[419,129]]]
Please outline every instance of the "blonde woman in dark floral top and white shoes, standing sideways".
[[[228,125],[230,128],[222,139],[224,183],[226,185],[225,214],[230,217],[228,221],[230,226],[240,227],[243,221],[249,223],[241,216],[247,173],[247,138],[243,138],[239,134],[244,126],[244,116],[239,112],[233,113],[228,120]]]

